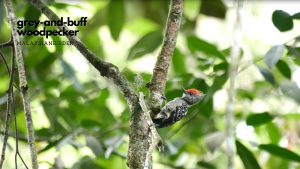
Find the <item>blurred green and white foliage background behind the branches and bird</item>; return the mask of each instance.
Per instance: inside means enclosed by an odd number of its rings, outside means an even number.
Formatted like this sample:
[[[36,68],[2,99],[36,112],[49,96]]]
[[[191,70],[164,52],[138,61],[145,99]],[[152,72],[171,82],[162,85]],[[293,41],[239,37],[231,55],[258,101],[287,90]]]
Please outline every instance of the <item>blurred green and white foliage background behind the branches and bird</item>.
[[[4,43],[10,39],[10,27],[0,2],[0,43]],[[13,2],[18,20],[48,20],[27,1]],[[142,91],[148,95],[145,84],[151,78],[163,41],[169,1],[45,2],[59,17],[73,20],[88,17],[86,27],[70,29],[79,30],[78,38],[99,58],[118,66],[137,93]],[[206,96],[189,109],[181,122],[158,130],[165,152],[154,151],[154,168],[226,168],[222,132],[226,127],[234,4],[221,0],[184,2],[166,97],[172,100],[181,96],[181,86],[199,89]],[[298,40],[293,40],[300,35],[299,5],[297,1],[246,1],[244,4],[243,52],[234,100],[236,169],[300,168],[300,48],[297,48]],[[21,40],[47,39],[22,37]],[[52,36],[48,40],[67,39]],[[285,43],[296,52],[282,46]],[[129,108],[113,83],[101,77],[72,46],[22,46],[22,50],[40,168],[127,168]],[[10,49],[1,51],[10,65]],[[15,79],[18,85],[17,74]],[[8,83],[1,61],[1,132]],[[20,93],[16,91],[15,97],[20,153],[30,166]],[[12,120],[10,135],[14,135]],[[3,137],[0,138],[2,143]],[[8,143],[4,168],[11,169],[14,168],[14,138],[9,137]],[[25,168],[20,160],[18,164]]]

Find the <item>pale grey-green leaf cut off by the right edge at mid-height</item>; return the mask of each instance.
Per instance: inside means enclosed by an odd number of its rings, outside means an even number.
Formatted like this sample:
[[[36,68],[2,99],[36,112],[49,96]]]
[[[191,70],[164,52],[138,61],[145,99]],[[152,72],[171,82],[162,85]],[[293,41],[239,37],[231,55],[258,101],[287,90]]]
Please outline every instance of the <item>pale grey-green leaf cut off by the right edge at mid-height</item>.
[[[295,101],[300,103],[300,89],[296,83],[281,82],[279,86],[284,94],[288,95],[289,97],[293,98]]]

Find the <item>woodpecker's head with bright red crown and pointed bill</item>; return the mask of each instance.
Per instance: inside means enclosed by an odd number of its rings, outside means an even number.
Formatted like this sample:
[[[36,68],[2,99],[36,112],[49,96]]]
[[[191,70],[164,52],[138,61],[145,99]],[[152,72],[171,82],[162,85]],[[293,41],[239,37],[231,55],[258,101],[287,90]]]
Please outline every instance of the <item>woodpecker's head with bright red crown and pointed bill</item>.
[[[205,94],[196,89],[185,90],[183,87],[181,87],[181,89],[183,91],[182,99],[190,106],[199,103],[205,96]]]

